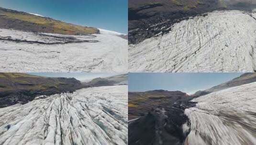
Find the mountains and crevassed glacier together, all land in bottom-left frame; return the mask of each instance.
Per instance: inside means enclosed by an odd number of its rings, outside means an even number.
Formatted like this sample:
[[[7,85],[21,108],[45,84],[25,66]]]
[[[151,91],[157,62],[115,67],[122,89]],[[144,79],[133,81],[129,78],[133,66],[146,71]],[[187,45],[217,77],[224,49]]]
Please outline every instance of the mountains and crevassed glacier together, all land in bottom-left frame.
[[[127,74],[0,73],[0,145],[127,145],[127,92]]]

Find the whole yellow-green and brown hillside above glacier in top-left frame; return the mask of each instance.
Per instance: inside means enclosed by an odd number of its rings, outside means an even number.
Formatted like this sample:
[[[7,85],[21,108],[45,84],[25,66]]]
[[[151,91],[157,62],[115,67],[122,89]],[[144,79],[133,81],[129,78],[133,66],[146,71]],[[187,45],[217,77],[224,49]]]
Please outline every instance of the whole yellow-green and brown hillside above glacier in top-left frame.
[[[67,35],[100,33],[96,28],[78,26],[47,17],[4,8],[0,8],[0,28]]]

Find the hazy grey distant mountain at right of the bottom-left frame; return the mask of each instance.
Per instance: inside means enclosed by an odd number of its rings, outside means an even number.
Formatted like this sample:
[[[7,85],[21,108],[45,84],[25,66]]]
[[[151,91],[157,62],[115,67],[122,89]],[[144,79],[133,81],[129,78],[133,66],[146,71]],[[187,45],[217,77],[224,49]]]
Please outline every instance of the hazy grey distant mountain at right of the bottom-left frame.
[[[95,78],[87,83],[83,83],[86,86],[96,87],[96,86],[110,86],[110,85],[127,85],[128,84],[128,74],[120,74],[106,78]]]

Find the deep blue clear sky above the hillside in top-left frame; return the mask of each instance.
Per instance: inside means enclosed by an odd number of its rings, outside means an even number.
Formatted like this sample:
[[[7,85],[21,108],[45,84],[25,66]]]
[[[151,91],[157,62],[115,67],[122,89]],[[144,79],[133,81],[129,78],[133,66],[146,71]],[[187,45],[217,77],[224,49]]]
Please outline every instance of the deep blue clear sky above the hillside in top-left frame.
[[[0,0],[0,7],[127,34],[127,0]]]

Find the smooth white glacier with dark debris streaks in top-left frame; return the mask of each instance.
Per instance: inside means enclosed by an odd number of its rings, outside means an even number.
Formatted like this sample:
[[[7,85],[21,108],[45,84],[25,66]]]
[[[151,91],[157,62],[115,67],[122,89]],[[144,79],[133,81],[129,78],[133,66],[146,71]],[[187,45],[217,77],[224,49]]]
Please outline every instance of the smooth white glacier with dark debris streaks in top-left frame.
[[[0,29],[0,72],[123,73],[128,41],[119,33],[60,35]]]

